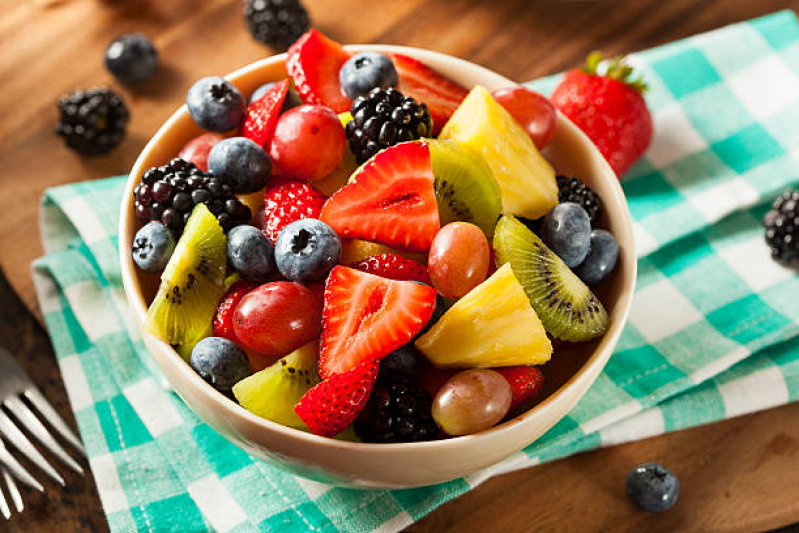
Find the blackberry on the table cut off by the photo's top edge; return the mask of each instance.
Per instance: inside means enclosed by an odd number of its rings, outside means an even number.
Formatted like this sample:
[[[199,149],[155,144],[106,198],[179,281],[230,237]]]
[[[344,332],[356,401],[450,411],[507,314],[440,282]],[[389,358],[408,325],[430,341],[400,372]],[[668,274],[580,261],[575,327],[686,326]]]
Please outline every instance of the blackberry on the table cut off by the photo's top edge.
[[[299,0],[245,0],[244,18],[253,39],[282,50],[308,31],[311,24]]]

